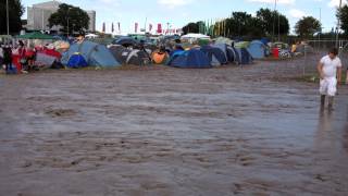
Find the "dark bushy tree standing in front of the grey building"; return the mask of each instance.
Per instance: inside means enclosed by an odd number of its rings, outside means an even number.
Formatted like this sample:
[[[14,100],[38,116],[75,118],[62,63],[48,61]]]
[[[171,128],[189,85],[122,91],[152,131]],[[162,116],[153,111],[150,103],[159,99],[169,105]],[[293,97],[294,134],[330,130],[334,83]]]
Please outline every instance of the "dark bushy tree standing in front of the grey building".
[[[62,3],[59,5],[58,11],[49,17],[48,22],[50,28],[59,25],[62,27],[62,32],[72,34],[88,29],[89,16],[80,8]]]

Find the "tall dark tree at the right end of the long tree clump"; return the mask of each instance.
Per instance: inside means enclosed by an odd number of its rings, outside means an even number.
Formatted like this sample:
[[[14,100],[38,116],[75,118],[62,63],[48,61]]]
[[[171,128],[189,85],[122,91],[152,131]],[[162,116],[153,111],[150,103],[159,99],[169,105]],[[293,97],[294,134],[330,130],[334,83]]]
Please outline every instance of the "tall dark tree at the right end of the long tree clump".
[[[266,36],[273,36],[274,34],[287,35],[289,33],[289,21],[277,11],[260,9],[257,12],[257,19],[261,23],[262,30]]]

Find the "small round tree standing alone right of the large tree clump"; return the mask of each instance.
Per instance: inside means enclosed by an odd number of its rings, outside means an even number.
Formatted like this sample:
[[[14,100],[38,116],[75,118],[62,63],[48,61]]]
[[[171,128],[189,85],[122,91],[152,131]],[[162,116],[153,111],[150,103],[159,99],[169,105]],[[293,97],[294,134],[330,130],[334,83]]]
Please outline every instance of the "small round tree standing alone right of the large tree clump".
[[[316,19],[312,16],[304,16],[296,23],[295,33],[300,37],[309,38],[316,32],[320,32],[321,28],[322,25]]]

